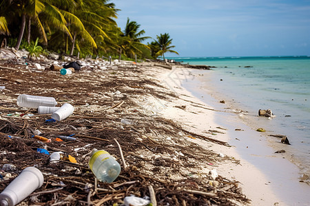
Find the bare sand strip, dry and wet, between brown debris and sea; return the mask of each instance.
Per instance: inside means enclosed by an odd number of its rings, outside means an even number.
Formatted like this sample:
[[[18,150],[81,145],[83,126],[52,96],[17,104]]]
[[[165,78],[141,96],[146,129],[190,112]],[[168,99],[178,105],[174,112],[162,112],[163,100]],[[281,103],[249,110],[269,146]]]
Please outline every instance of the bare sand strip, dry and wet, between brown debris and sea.
[[[216,133],[214,137],[229,142],[232,147],[205,142],[198,144],[240,160],[240,165],[225,163],[220,165],[218,171],[224,176],[240,181],[240,186],[244,194],[251,199],[252,205],[309,205],[310,198],[307,194],[310,187],[299,182],[298,167],[289,161],[290,157],[287,154],[274,153],[281,148],[280,144],[272,148],[266,137],[256,132],[255,126],[251,128],[243,124],[246,114],[229,107],[229,104],[220,104],[214,98],[217,96],[214,89],[199,89],[200,76],[210,72],[212,71],[175,67],[163,75],[163,82],[179,94],[181,100],[176,104],[186,105],[183,111],[174,108],[165,111],[163,115],[188,122],[187,126],[196,133],[203,134],[209,128],[216,127],[226,129],[225,134]],[[185,88],[189,88],[192,93]],[[196,105],[188,104],[188,101],[195,102]],[[200,106],[196,107],[197,105]]]

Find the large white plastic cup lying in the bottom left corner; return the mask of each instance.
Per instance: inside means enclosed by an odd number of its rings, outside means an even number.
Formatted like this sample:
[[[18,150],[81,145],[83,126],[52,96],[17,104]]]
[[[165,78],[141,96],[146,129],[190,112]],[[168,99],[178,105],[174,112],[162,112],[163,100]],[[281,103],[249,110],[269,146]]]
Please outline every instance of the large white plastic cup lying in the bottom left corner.
[[[44,177],[34,167],[25,168],[0,194],[0,205],[17,205],[43,185]]]

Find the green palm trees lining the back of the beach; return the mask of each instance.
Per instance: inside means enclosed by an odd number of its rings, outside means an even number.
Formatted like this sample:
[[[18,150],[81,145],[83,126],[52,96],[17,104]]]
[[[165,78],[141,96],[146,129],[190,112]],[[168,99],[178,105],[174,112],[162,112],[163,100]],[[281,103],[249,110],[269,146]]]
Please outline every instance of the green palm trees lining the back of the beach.
[[[81,57],[158,58],[172,50],[168,33],[156,38],[127,19],[121,31],[110,0],[0,0],[0,40],[15,49],[50,51]],[[147,39],[152,39],[145,44]],[[39,46],[41,45],[41,46]]]

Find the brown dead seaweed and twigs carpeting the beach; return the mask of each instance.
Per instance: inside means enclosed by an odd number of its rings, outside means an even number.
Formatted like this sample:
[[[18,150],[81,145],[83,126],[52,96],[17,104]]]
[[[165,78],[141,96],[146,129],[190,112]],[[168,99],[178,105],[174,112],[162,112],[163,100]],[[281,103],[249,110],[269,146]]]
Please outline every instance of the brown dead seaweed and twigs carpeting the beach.
[[[186,137],[191,135],[225,146],[227,143],[191,133],[176,122],[145,113],[141,97],[152,95],[171,101],[178,96],[149,78],[143,67],[119,65],[117,69],[104,71],[82,70],[72,76],[60,76],[55,71],[14,69],[17,63],[12,60],[2,62],[2,67],[12,69],[0,69],[1,85],[6,86],[0,93],[0,165],[9,163],[16,170],[1,170],[2,176],[8,173],[12,176],[0,181],[0,190],[21,170],[35,165],[43,172],[45,181],[23,201],[28,204],[121,205],[125,196],[149,196],[150,185],[157,205],[249,203],[238,182],[223,176],[210,179],[207,173],[201,172],[202,163],[211,169],[220,162],[235,160],[220,158],[215,152],[187,141]],[[38,115],[35,109],[17,106],[17,96],[22,93],[51,96],[59,104],[70,102],[74,114],[61,122],[46,122],[50,115]],[[122,123],[122,119],[130,124]],[[37,130],[52,142],[32,139]],[[72,134],[76,141],[54,141],[58,135]],[[93,148],[107,150],[121,163],[113,139],[121,145],[129,170],[123,170],[113,183],[96,183],[88,168],[90,152]],[[50,153],[65,152],[74,156],[77,163],[50,163],[49,155],[37,152],[37,148]]]

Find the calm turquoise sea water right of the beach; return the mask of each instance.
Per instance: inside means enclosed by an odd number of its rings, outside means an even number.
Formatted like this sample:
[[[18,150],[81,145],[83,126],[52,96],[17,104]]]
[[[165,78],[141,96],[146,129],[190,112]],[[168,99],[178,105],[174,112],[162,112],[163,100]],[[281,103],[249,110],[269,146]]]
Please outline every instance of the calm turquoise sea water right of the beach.
[[[252,126],[265,128],[271,134],[287,135],[291,143],[289,152],[301,174],[310,174],[309,56],[169,59],[214,67],[211,73],[205,71],[205,82],[200,77],[199,84],[210,85],[220,93],[219,100],[247,111]],[[267,108],[276,117],[258,117],[258,110]]]

